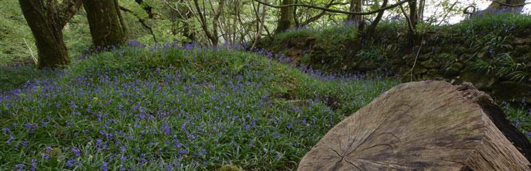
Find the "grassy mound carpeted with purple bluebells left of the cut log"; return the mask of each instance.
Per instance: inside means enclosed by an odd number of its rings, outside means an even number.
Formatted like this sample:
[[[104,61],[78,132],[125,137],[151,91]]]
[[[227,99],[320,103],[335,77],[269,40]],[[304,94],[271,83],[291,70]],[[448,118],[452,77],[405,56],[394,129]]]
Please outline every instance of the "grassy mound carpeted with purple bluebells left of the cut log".
[[[399,83],[193,44],[82,58],[0,94],[0,170],[293,170]]]

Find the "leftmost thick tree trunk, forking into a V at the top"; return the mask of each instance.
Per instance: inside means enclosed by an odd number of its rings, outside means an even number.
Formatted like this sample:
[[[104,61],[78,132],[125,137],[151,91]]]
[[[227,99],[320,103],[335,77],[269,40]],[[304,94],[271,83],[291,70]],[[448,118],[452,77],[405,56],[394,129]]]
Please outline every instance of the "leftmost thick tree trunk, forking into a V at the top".
[[[38,68],[58,68],[70,63],[62,28],[78,12],[80,0],[19,0],[38,51]]]

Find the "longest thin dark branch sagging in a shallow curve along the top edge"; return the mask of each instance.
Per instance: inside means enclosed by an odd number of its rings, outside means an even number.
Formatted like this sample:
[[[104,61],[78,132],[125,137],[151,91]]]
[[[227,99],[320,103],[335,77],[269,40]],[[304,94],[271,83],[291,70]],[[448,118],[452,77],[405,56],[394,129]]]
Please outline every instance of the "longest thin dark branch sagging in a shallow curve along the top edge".
[[[258,3],[261,3],[263,5],[268,5],[269,7],[272,7],[272,8],[286,8],[286,7],[306,7],[306,8],[314,8],[314,9],[317,9],[317,10],[323,10],[323,11],[326,11],[326,12],[334,12],[334,13],[341,13],[341,14],[351,14],[351,15],[370,15],[370,14],[376,14],[378,12],[381,12],[381,11],[385,11],[385,10],[389,10],[391,8],[395,8],[399,5],[402,5],[403,3],[406,3],[410,0],[404,0],[404,1],[399,1],[397,3],[394,3],[393,5],[389,5],[385,8],[380,8],[378,10],[374,10],[374,11],[370,11],[370,12],[348,12],[348,11],[342,11],[342,10],[333,10],[333,9],[329,9],[329,8],[324,8],[324,7],[320,7],[320,6],[316,6],[316,5],[307,5],[307,4],[289,4],[289,5],[271,5],[269,3],[264,3],[262,1],[259,1],[259,0],[255,0],[257,1]]]

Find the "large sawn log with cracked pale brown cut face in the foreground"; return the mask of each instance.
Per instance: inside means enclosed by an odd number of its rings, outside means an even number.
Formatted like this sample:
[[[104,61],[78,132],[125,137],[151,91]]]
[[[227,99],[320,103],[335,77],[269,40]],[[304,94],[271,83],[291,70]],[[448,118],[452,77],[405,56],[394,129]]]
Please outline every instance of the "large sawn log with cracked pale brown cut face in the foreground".
[[[470,83],[421,81],[392,88],[342,120],[298,170],[531,170],[530,147]]]

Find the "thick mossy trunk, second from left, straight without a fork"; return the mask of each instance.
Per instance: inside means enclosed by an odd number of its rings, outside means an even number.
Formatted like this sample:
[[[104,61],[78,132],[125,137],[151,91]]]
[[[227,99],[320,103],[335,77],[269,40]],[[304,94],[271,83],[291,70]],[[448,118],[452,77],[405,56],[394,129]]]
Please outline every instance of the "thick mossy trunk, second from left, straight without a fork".
[[[117,0],[83,0],[83,6],[96,49],[126,43],[127,29]]]

